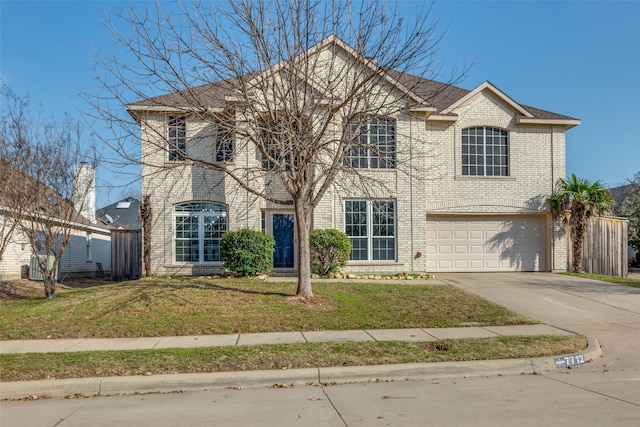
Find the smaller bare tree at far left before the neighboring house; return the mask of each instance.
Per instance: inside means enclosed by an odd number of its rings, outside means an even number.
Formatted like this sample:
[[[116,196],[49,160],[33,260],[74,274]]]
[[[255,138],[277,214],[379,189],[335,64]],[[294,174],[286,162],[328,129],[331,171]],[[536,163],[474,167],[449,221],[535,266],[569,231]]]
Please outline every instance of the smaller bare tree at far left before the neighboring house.
[[[87,145],[81,149],[82,128],[70,116],[62,121],[44,117],[28,97],[15,95],[6,85],[2,96],[2,249],[10,232],[19,230],[36,256],[45,296],[51,298],[71,235],[87,225],[80,212],[86,194],[95,189],[86,176],[78,175],[76,166],[91,159],[91,149]]]

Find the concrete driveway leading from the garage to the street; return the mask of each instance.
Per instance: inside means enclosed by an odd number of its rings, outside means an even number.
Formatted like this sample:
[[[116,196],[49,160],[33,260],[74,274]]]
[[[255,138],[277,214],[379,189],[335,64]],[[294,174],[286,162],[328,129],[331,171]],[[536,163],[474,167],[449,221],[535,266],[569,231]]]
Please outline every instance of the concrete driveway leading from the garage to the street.
[[[596,337],[597,370],[640,371],[640,289],[554,273],[440,273],[449,283],[548,325]]]

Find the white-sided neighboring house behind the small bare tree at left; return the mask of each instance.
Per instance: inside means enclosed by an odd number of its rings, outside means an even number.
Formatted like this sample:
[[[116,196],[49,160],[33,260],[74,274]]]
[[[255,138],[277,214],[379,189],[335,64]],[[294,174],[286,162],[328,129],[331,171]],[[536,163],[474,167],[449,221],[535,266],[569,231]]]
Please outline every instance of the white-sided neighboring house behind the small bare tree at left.
[[[93,169],[90,173],[93,173]],[[88,194],[87,197],[92,198],[92,201],[85,205],[95,206],[95,193]],[[96,263],[101,263],[106,270],[111,264],[109,230],[96,222],[91,210],[83,209],[81,214],[78,214],[77,220],[71,225],[73,229],[71,238],[60,258],[58,266],[60,279],[71,276],[92,277],[98,274]],[[0,206],[0,229],[3,229],[2,225],[6,221],[10,221],[9,218],[10,214],[6,208]],[[35,266],[32,255],[34,253],[28,239],[19,228],[16,228],[0,261],[0,280],[29,278],[29,269]],[[33,275],[33,271],[31,273]]]

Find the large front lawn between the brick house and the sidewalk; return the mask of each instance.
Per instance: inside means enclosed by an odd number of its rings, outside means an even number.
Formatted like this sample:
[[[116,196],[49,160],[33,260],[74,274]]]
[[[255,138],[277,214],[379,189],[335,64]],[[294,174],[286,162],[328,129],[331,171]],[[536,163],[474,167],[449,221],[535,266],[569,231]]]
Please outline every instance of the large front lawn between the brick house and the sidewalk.
[[[449,285],[152,277],[0,303],[0,339],[455,327],[535,321]]]

